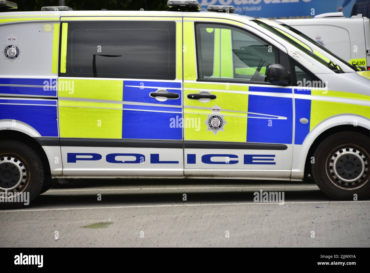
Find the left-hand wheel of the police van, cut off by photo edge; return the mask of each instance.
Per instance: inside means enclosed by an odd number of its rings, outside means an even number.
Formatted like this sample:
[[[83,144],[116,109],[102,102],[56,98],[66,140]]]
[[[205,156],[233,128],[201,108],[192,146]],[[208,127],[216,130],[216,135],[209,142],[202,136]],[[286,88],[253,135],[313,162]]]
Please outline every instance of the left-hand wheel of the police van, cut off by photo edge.
[[[13,140],[0,141],[0,191],[28,193],[31,203],[40,193],[45,179],[44,165],[34,149]],[[9,190],[8,190],[9,189]],[[20,208],[24,202],[0,202],[1,209]]]

